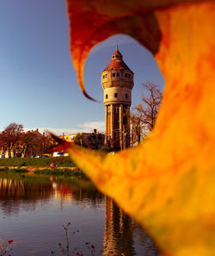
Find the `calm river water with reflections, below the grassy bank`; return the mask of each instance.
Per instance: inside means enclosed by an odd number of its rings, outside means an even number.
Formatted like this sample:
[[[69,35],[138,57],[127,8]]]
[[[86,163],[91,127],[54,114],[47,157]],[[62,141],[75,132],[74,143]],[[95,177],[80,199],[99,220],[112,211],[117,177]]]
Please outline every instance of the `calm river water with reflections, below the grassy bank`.
[[[158,255],[144,229],[85,178],[0,172],[0,240],[13,240],[11,256]]]

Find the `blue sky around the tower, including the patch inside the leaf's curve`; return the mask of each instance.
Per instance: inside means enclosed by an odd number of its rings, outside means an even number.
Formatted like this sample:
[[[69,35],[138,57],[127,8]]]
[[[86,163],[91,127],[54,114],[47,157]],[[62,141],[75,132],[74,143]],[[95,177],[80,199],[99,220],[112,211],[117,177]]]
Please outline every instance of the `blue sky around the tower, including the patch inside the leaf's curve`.
[[[116,35],[93,48],[84,83],[89,96],[101,101],[94,103],[77,84],[64,0],[0,1],[0,130],[10,122],[57,134],[104,130],[101,72],[117,41],[134,72],[133,107],[140,102],[141,83],[151,81],[162,89],[164,84],[155,59],[138,42]]]

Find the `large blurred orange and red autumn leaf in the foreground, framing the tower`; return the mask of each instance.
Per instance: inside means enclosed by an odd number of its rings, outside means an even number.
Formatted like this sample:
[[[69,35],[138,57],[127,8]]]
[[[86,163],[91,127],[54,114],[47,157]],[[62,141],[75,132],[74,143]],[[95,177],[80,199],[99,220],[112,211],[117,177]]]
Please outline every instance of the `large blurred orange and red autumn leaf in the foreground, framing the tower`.
[[[157,126],[139,147],[111,156],[70,145],[71,159],[148,229],[163,254],[215,255],[215,3],[67,4],[71,55],[86,96],[84,61],[117,33],[154,54],[166,83]]]

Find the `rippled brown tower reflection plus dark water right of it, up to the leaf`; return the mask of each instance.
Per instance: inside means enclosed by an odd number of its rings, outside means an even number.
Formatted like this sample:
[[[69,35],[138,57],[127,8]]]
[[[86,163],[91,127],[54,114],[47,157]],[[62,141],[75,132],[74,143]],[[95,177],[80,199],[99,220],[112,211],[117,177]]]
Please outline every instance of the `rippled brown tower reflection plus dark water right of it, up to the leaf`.
[[[103,256],[158,255],[157,247],[151,237],[109,197],[105,197],[105,208]],[[140,250],[141,254],[135,250],[135,236],[138,237],[139,242],[143,245]]]

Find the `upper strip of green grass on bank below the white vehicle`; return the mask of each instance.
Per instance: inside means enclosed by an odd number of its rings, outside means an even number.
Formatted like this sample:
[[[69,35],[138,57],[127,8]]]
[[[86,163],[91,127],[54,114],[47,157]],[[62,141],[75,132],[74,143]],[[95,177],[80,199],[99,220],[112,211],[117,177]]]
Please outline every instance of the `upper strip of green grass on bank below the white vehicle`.
[[[76,167],[69,157],[62,158],[14,158],[0,159],[0,166],[50,166],[51,163],[59,167]]]

